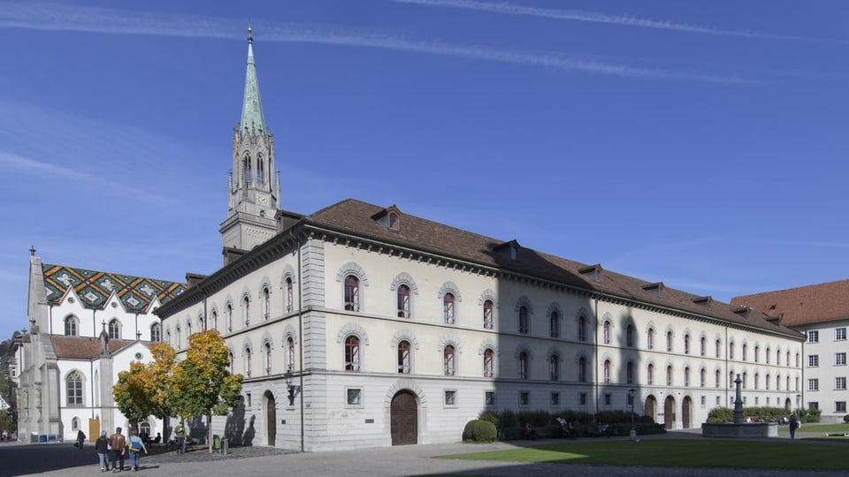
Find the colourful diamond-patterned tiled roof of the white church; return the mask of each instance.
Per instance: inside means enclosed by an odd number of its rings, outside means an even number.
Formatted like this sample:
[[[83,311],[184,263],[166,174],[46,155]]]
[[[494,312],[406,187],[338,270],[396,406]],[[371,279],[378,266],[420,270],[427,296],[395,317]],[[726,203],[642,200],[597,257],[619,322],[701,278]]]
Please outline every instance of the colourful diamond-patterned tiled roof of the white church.
[[[186,291],[185,284],[48,263],[42,264],[42,271],[50,303],[57,303],[73,288],[86,307],[103,309],[115,293],[127,311],[144,312],[154,299],[164,304]]]

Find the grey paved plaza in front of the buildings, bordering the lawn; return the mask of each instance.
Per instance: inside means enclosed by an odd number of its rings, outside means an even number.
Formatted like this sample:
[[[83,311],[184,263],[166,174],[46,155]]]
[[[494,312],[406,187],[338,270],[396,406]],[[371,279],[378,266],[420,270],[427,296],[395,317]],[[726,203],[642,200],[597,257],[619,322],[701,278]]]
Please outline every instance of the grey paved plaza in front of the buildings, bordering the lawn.
[[[804,436],[800,433],[799,436]],[[671,432],[648,435],[645,439],[698,438],[698,432]],[[547,441],[535,441],[534,445]],[[555,442],[555,441],[552,441]],[[561,441],[562,442],[562,441]],[[492,444],[424,444],[358,451],[287,453],[267,447],[232,449],[222,456],[203,449],[177,455],[164,452],[142,457],[142,469],[133,475],[169,475],[209,477],[212,475],[496,475],[554,477],[561,475],[629,476],[704,476],[775,477],[845,475],[846,471],[776,471],[776,469],[692,469],[686,467],[581,466],[568,464],[523,464],[435,458],[463,452],[495,451],[528,445],[527,442]],[[639,444],[635,444],[639,445]],[[829,444],[824,444],[829,445]],[[843,447],[836,449],[843,451]],[[128,462],[126,463],[128,468]],[[125,473],[130,471],[124,471]],[[125,473],[121,473],[122,475]],[[90,476],[103,475],[97,468],[94,448],[87,443],[83,451],[72,443],[0,445],[0,477],[19,475]]]

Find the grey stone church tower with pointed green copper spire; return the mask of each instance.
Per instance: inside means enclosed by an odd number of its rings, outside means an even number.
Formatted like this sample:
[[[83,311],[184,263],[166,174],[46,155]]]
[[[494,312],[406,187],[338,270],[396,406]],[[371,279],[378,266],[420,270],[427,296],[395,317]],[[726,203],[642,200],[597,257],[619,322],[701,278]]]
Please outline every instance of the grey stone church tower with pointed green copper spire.
[[[245,97],[241,122],[233,129],[227,219],[219,229],[224,239],[225,265],[271,239],[277,232],[274,216],[280,208],[280,178],[279,171],[276,177],[272,176],[274,137],[265,127],[253,43],[249,27]]]

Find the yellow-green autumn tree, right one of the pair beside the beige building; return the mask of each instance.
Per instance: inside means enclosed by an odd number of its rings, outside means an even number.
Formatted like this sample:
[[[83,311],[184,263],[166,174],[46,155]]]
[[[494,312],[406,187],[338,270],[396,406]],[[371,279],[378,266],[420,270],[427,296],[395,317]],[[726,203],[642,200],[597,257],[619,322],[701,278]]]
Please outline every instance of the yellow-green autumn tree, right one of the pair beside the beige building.
[[[172,390],[180,418],[207,417],[210,452],[212,416],[225,415],[240,399],[241,375],[230,374],[229,354],[217,330],[195,333],[188,338],[186,359],[180,361],[172,375]]]

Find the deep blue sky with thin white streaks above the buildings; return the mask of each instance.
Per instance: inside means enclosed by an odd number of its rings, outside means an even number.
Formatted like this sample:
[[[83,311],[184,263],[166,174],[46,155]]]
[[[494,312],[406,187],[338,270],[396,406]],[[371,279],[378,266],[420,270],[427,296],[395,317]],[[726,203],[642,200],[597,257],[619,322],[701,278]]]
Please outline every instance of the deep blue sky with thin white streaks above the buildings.
[[[42,261],[221,263],[254,51],[283,208],[354,197],[715,299],[849,277],[840,0],[0,1],[0,339]]]

